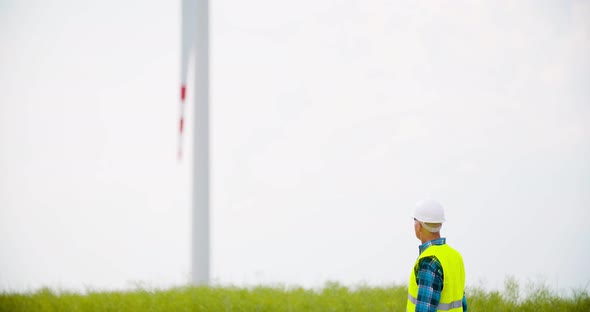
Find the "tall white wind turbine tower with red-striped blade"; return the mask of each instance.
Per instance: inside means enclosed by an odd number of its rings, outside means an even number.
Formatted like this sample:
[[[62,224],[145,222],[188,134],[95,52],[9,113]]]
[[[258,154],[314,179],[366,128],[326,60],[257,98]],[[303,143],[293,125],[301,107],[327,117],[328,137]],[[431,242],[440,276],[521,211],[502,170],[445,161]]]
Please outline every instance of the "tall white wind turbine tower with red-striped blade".
[[[194,99],[191,282],[209,283],[209,3],[182,1],[181,106],[178,156],[182,157],[184,101]],[[194,89],[187,89],[190,56],[194,58]]]

